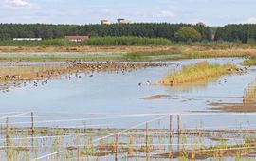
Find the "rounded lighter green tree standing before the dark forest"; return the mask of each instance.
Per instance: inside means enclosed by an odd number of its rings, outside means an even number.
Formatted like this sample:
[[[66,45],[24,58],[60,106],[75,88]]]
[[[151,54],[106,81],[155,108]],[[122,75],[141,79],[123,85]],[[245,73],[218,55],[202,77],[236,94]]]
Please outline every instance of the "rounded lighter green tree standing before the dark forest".
[[[193,27],[181,27],[175,33],[175,38],[181,42],[196,42],[202,39],[202,35]]]

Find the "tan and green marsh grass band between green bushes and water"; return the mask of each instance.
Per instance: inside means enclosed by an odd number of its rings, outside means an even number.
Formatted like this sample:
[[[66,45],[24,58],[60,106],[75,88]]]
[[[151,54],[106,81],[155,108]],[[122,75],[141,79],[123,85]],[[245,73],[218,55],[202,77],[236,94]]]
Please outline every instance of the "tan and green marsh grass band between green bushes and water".
[[[66,45],[0,47],[0,61],[174,61],[181,59],[255,57],[250,45]],[[8,54],[7,54],[8,53]],[[35,54],[37,53],[37,54]]]

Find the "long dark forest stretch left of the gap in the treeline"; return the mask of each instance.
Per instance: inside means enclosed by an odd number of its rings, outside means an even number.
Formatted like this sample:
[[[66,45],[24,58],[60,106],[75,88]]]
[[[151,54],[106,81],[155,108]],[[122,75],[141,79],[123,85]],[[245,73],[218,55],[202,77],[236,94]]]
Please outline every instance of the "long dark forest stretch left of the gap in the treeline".
[[[43,39],[62,38],[65,35],[138,36],[149,38],[166,38],[178,41],[175,33],[181,27],[192,27],[200,33],[200,41],[211,41],[210,27],[203,24],[113,24],[113,25],[44,25],[44,24],[0,24],[0,40],[12,38],[38,37]]]

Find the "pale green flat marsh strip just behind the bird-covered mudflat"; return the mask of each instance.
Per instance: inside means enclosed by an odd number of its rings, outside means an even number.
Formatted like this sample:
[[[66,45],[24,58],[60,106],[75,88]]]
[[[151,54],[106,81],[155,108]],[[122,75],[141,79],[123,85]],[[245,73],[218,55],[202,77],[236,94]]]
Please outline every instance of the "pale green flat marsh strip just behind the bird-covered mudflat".
[[[166,61],[178,59],[172,53],[0,53],[0,61]]]

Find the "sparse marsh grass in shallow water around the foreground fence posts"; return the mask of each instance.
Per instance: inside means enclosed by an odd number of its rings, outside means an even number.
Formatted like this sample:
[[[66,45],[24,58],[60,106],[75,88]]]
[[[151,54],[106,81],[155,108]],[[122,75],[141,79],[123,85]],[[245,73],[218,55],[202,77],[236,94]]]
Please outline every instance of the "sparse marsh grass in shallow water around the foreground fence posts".
[[[239,158],[242,156],[244,158],[244,154],[249,154],[249,152],[253,154],[253,152],[255,152],[251,151],[251,148],[256,149],[255,130],[249,131],[245,129],[245,134],[240,134],[243,132],[242,130],[204,130],[201,122],[201,130],[198,130],[197,128],[186,129],[185,125],[180,130],[174,128],[174,135],[172,135],[174,142],[177,137],[180,137],[180,149],[177,149],[176,151],[176,145],[172,145],[171,143],[168,144],[171,129],[161,127],[164,122],[165,121],[160,122],[160,120],[155,121],[155,125],[150,126],[151,128],[149,129],[141,127],[141,129],[129,129],[129,131],[123,133],[121,133],[123,129],[109,129],[102,127],[100,129],[84,130],[84,126],[81,129],[45,127],[43,128],[45,130],[42,134],[42,128],[36,127],[34,132],[35,136],[56,137],[45,137],[42,140],[40,139],[40,141],[38,140],[35,144],[35,151],[38,151],[40,156],[42,155],[42,152],[45,151],[59,152],[65,150],[62,153],[50,156],[48,160],[101,160],[101,157],[104,157],[103,159],[105,160],[111,160],[111,158],[113,160],[112,156],[115,155],[116,151],[116,139],[113,135],[116,133],[119,133],[119,158],[128,156],[129,159],[134,160],[145,159],[145,152],[148,152],[149,160],[172,160],[171,158],[174,160],[199,160],[212,158],[222,160],[226,157]],[[174,123],[177,122],[175,121]],[[10,125],[7,121],[6,127],[2,133],[9,136],[7,137],[6,143],[11,146],[17,146],[18,148],[7,147],[6,149],[9,150],[9,155],[6,155],[6,157],[10,160],[27,160],[38,157],[38,155],[30,155],[30,139],[28,139],[27,136],[31,135],[31,127],[15,128],[12,124]],[[239,133],[236,134],[236,132]],[[105,137],[109,134],[113,135]],[[212,140],[212,144],[209,144],[207,139],[212,136],[217,136],[218,138]],[[18,138],[18,140],[15,138]],[[204,140],[204,138],[206,140]],[[243,141],[232,144],[236,138],[237,140],[242,139]],[[95,141],[97,139],[100,139],[100,141]],[[170,152],[168,149],[163,148],[164,146],[173,146],[172,149],[174,152]],[[43,147],[45,151],[40,149]],[[157,155],[155,153],[161,154]]]

